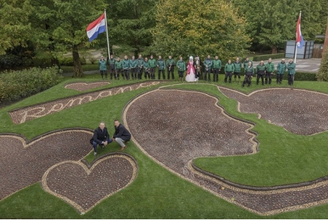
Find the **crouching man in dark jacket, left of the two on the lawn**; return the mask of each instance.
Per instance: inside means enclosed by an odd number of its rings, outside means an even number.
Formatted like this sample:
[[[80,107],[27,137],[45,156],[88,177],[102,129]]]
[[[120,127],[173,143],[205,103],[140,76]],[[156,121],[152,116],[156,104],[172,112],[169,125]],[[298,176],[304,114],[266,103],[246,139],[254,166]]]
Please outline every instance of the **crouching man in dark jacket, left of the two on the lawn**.
[[[93,146],[94,155],[97,156],[97,146],[104,148],[107,144],[113,142],[112,139],[109,138],[109,133],[107,128],[104,126],[104,122],[99,123],[99,127],[95,129],[93,132],[93,137],[90,139],[90,143]]]

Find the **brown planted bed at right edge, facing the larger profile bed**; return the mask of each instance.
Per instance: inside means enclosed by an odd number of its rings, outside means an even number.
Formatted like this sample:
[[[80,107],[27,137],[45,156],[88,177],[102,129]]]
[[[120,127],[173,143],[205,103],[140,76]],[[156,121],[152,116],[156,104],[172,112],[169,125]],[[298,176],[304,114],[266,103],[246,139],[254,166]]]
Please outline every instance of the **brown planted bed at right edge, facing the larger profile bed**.
[[[219,88],[240,102],[240,111],[262,118],[295,134],[311,135],[328,130],[328,95],[297,89],[266,89],[249,95]]]

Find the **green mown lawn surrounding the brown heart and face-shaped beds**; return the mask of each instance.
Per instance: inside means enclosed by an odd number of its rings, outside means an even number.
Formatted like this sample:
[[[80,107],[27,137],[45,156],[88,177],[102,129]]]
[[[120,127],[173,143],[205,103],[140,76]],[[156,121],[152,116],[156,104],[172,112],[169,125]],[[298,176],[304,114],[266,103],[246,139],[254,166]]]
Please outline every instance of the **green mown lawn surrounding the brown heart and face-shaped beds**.
[[[30,106],[35,103],[51,101],[74,94],[82,94],[64,88],[66,83],[74,81],[91,82],[99,80],[99,74],[87,75],[83,79],[66,78],[59,85],[50,88],[18,103],[0,109],[0,132],[23,134],[28,139],[39,134],[61,128],[91,128],[99,121],[107,122],[109,133],[113,133],[113,119],[121,118],[125,104],[136,95],[151,90],[143,88],[111,97],[98,99],[81,106],[62,110],[55,114],[41,117],[26,123],[14,125],[8,111]],[[177,79],[177,78],[176,78]],[[220,74],[220,81],[223,75]],[[112,86],[126,84],[127,81],[112,81]],[[131,81],[129,81],[131,83]],[[176,82],[170,82],[175,84]],[[167,84],[170,84],[167,83]],[[223,85],[223,83],[219,83]],[[240,88],[238,83],[226,85],[230,88],[250,92],[257,88]],[[273,87],[273,86],[272,86]],[[295,87],[328,93],[327,83],[296,81]],[[311,137],[290,134],[284,129],[273,126],[255,114],[237,112],[236,101],[221,94],[215,86],[188,84],[174,85],[173,88],[201,90],[220,99],[220,104],[227,112],[237,117],[257,123],[254,130],[259,132],[257,139],[261,142],[257,154],[235,157],[216,157],[197,159],[197,165],[227,177],[230,181],[250,185],[271,186],[294,183],[302,179],[316,179],[327,175],[327,141],[328,132]],[[262,87],[259,87],[262,88]],[[93,89],[98,90],[99,88]],[[90,90],[90,91],[93,91]],[[98,153],[114,152],[120,148],[111,143],[108,148],[100,148]],[[126,152],[138,162],[138,176],[130,186],[113,194],[84,215],[57,197],[42,190],[39,183],[20,190],[0,201],[2,219],[326,219],[328,205],[316,206],[306,210],[285,212],[269,217],[262,217],[239,208],[194,184],[168,172],[145,156],[134,143],[129,143]],[[86,156],[87,161],[93,155]],[[310,166],[310,167],[309,167]],[[220,169],[218,169],[220,168]],[[241,176],[241,177],[239,177]],[[243,178],[244,177],[244,178]]]

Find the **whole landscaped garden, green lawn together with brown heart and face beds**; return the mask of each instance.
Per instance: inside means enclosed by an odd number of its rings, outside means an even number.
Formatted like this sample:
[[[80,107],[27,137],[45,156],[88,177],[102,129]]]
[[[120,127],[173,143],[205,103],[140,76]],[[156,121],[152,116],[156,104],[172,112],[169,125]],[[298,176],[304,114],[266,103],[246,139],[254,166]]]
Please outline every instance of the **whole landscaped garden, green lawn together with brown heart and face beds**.
[[[250,88],[240,88],[239,83],[226,84],[223,75],[219,77],[219,83],[122,80],[100,83],[99,74],[91,74],[83,79],[65,78],[57,86],[1,108],[1,170],[8,170],[8,178],[1,180],[0,216],[6,219],[327,218],[327,183],[320,179],[327,176],[328,170],[327,83],[295,81],[293,90],[286,81],[277,86],[253,83]],[[80,84],[75,88],[75,83]],[[87,90],[80,90],[83,86],[88,86]],[[275,88],[281,89],[278,98]],[[231,90],[244,94],[260,91],[246,98]],[[293,102],[285,97],[291,97]],[[245,106],[259,99],[257,104],[265,108]],[[295,109],[300,108],[300,102],[304,102],[304,108],[316,104],[319,107],[310,108],[309,115],[294,117],[293,109],[300,114]],[[282,109],[281,117],[274,117],[279,112],[277,108]],[[313,125],[316,122],[299,121],[305,115],[318,120],[318,126]],[[118,143],[111,143],[99,148],[95,158],[89,143],[92,131],[104,121],[109,134],[113,134],[114,119],[120,119],[129,128],[133,139],[122,154],[118,153]],[[295,129],[288,127],[293,124],[286,123],[289,119],[299,123]],[[302,129],[311,132],[304,134]],[[24,138],[27,143],[21,144]],[[35,152],[31,152],[33,148]],[[67,181],[69,176],[78,177],[74,173],[78,168],[65,161],[82,158],[84,163],[99,162],[97,166],[104,167],[97,171],[101,173],[113,169],[116,162],[121,164],[118,171],[124,165],[126,170],[122,173],[127,174],[129,181],[123,182],[120,175],[115,177],[117,182],[108,180],[108,186],[118,190],[108,192],[110,195],[104,199],[99,194],[107,184],[92,188],[92,192],[81,190],[84,183],[95,181],[94,186],[98,186],[96,178],[106,179],[105,174],[94,174],[94,179]],[[41,168],[46,171],[38,174],[39,178],[35,170]],[[210,177],[222,179],[201,176],[199,170],[205,176],[210,172]],[[27,177],[30,179],[26,180]],[[51,185],[56,178],[57,182]],[[5,183],[15,184],[5,186]],[[62,197],[56,197],[55,190]],[[75,197],[75,203],[65,199],[71,196]],[[98,197],[100,203],[94,200]],[[83,199],[84,204],[79,205]],[[87,201],[91,204],[86,204]]]

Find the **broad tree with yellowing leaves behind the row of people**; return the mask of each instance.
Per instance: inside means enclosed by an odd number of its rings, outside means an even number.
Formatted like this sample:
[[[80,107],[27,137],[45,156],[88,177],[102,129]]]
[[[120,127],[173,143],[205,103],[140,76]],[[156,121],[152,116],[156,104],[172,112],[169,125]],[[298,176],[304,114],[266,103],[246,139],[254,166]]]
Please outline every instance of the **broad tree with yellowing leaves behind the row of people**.
[[[224,0],[160,1],[152,33],[152,50],[162,57],[212,54],[228,59],[250,46],[245,19]]]

